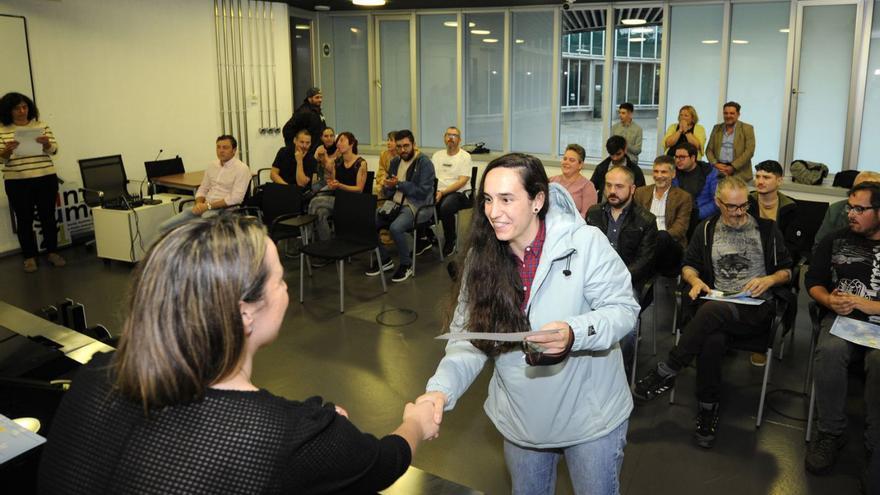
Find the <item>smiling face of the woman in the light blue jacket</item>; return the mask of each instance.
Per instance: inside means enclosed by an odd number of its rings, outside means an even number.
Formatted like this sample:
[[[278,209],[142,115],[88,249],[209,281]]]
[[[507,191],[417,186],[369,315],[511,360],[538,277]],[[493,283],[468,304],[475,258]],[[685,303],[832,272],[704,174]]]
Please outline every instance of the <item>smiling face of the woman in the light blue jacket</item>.
[[[538,211],[544,206],[544,193],[529,198],[522,177],[515,169],[498,167],[486,174],[483,184],[483,213],[495,237],[510,243],[514,252],[525,250],[538,233]]]

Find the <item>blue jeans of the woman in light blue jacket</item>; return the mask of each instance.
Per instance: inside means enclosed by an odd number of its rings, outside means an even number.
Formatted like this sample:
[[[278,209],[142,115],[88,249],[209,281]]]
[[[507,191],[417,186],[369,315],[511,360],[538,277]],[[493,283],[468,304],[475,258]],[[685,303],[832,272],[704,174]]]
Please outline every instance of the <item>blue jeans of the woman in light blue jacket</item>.
[[[556,491],[556,464],[565,455],[571,484],[577,495],[613,495],[620,491],[620,468],[626,446],[624,421],[604,437],[562,449],[528,449],[504,441],[504,459],[514,495],[552,495]]]

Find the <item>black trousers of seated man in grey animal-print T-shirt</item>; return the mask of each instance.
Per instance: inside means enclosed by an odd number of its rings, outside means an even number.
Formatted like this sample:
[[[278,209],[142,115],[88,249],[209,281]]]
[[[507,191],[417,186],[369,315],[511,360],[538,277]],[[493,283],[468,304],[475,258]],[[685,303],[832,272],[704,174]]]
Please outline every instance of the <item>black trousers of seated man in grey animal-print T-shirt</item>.
[[[685,294],[685,300],[690,298]],[[678,371],[697,361],[697,400],[718,402],[721,398],[721,360],[729,338],[758,337],[769,331],[770,319],[776,311],[774,301],[760,306],[746,306],[720,301],[686,305],[695,310],[693,318],[682,330],[678,345],[669,351],[667,364]],[[690,306],[688,308],[687,306]]]

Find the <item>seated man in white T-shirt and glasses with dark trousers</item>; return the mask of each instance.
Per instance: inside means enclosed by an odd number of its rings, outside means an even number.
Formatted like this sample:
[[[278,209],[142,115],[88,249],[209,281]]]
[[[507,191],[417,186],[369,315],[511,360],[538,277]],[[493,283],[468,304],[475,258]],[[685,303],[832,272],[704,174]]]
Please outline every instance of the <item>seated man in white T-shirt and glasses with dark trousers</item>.
[[[437,174],[437,216],[443,223],[443,256],[455,251],[455,214],[471,204],[471,154],[461,149],[461,131],[449,127],[443,136],[446,149],[434,153],[431,161]],[[430,244],[426,244],[428,248]]]

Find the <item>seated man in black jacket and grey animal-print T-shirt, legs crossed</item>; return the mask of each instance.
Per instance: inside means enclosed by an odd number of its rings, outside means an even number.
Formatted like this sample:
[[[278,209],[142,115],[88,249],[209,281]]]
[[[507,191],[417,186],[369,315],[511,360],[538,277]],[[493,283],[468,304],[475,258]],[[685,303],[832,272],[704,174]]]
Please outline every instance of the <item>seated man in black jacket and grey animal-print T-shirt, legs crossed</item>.
[[[688,245],[681,270],[690,285],[688,296],[702,303],[685,326],[678,345],[666,362],[638,381],[633,394],[643,400],[669,391],[675,377],[697,361],[697,444],[711,448],[718,428],[721,358],[728,335],[749,336],[767,332],[776,312],[776,300],[790,301],[785,290],[791,279],[791,256],[776,223],[755,218],[749,206],[748,187],[742,179],[727,177],[718,184],[715,201],[721,215],[701,222]],[[754,306],[723,301],[698,301],[713,289],[745,292],[761,299]]]

